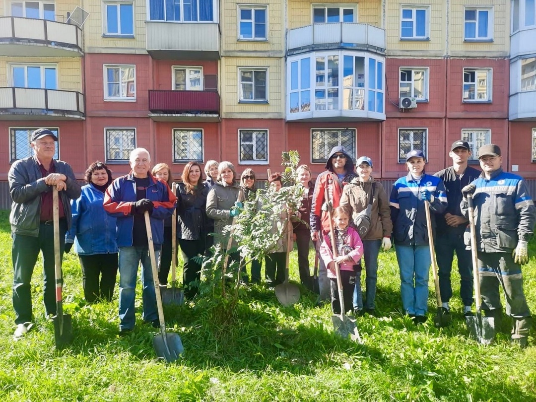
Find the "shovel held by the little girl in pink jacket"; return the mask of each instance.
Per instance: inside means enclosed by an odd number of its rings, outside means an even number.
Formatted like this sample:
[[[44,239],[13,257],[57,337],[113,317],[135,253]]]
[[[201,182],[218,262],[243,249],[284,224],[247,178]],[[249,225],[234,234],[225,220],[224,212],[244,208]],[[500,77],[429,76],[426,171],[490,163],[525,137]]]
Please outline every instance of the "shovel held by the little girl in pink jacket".
[[[325,201],[329,205],[329,192],[327,187],[324,192]],[[333,258],[338,257],[337,253],[337,244],[335,243],[335,233],[333,232],[333,216],[331,213],[331,206],[327,207],[327,214],[329,216],[330,223],[330,235],[331,235],[331,251],[333,253]],[[339,334],[343,338],[348,338],[348,336],[353,340],[361,343],[361,336],[359,335],[358,326],[355,323],[355,318],[353,316],[345,315],[344,307],[344,295],[343,295],[343,280],[340,277],[340,267],[339,264],[335,264],[335,274],[337,276],[337,290],[339,292],[339,302],[340,302],[340,315],[333,314],[331,316],[331,321],[333,322],[333,331]]]

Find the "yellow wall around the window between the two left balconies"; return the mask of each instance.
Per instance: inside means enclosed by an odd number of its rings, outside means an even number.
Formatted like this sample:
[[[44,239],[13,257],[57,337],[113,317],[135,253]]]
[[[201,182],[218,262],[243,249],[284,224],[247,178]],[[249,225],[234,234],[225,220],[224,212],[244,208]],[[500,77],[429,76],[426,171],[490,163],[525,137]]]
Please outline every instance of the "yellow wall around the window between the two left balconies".
[[[0,87],[8,86],[8,63],[56,64],[58,90],[82,92],[82,64],[79,57],[0,57]]]

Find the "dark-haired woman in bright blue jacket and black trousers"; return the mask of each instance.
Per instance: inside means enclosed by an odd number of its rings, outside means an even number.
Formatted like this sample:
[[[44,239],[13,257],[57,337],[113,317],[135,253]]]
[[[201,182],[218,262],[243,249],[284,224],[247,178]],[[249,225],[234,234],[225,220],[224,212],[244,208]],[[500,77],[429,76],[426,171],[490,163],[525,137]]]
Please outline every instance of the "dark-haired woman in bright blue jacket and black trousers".
[[[80,197],[71,201],[72,225],[65,236],[65,252],[75,244],[86,301],[110,301],[117,277],[116,222],[105,212],[102,202],[112,181],[111,172],[105,163],[96,161],[87,168],[84,178],[87,184]]]

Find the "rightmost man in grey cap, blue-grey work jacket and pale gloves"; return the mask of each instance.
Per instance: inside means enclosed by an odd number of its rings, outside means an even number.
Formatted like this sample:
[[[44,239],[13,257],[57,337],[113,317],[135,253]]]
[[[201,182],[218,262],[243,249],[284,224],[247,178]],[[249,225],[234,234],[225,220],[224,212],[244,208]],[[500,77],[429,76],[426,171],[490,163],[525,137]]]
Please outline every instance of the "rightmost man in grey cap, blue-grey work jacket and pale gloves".
[[[499,285],[506,296],[506,312],[512,317],[511,341],[526,347],[532,318],[523,293],[521,266],[528,262],[527,243],[536,219],[534,202],[522,177],[503,172],[501,148],[484,145],[479,150],[483,172],[461,189],[461,211],[468,217],[467,195],[473,195],[477,232],[482,310],[501,317]]]

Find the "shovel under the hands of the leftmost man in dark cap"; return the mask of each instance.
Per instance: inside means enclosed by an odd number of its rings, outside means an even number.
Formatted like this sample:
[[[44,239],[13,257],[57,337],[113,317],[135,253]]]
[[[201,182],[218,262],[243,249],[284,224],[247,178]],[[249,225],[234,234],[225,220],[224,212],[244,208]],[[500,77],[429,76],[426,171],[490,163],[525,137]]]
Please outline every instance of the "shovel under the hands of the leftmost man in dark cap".
[[[62,349],[72,342],[72,319],[70,314],[63,314],[62,299],[62,262],[59,254],[59,210],[58,210],[58,190],[52,188],[53,216],[54,216],[54,272],[56,276],[56,315],[52,317],[54,322],[54,341],[56,348]]]

